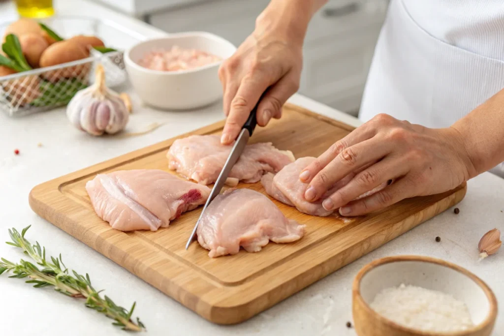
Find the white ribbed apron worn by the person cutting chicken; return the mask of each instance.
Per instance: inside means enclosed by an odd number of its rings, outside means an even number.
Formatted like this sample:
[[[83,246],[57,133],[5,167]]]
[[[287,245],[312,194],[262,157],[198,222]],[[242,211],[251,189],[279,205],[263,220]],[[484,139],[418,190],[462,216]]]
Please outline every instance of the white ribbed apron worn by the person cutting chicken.
[[[504,1],[391,0],[359,119],[448,127],[502,89]]]

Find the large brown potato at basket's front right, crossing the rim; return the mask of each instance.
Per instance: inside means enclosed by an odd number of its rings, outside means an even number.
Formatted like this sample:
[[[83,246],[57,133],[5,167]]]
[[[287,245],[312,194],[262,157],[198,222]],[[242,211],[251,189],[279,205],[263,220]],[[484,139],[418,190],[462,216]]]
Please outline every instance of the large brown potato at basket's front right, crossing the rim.
[[[40,68],[72,62],[86,57],[89,57],[89,50],[79,43],[70,40],[59,41],[51,44],[42,52],[42,56],[40,57]],[[85,77],[88,75],[90,69],[91,62],[50,71],[42,74],[42,76],[51,82],[57,82],[61,78]]]

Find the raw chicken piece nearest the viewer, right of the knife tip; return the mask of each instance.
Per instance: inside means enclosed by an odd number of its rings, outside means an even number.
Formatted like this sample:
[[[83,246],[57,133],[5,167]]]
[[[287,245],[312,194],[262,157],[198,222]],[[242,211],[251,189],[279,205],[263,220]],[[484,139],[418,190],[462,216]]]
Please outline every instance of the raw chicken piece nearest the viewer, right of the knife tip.
[[[236,254],[242,246],[258,252],[268,242],[290,243],[304,235],[304,225],[285,218],[265,195],[228,189],[212,200],[198,226],[198,242],[210,257]]]

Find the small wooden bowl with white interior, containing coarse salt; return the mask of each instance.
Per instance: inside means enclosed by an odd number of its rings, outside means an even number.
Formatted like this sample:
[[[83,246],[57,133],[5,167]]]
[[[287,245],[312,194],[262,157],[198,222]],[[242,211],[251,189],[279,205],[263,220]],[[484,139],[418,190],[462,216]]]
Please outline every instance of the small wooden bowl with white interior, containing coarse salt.
[[[474,327],[464,331],[433,332],[399,325],[369,304],[385,288],[401,284],[452,295],[466,303]],[[352,288],[352,314],[359,336],[488,336],[497,316],[497,299],[478,277],[453,263],[426,256],[385,257],[365,265]]]

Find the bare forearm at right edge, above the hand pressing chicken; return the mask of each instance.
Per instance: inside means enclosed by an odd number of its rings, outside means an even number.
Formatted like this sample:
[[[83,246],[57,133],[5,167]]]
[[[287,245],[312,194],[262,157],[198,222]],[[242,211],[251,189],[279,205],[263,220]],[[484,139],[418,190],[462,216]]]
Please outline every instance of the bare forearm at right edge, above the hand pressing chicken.
[[[474,177],[504,161],[504,90],[452,126],[461,134]]]

